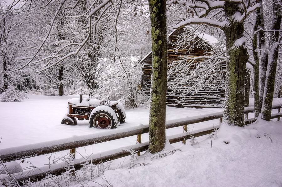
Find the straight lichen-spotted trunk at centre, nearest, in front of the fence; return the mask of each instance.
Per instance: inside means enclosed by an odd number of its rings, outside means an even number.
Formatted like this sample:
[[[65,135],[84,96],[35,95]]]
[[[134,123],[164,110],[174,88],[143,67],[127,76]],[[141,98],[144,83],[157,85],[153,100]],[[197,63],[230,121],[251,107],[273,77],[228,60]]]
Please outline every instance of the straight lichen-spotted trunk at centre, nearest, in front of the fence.
[[[149,117],[149,152],[165,147],[167,84],[166,0],[149,0],[152,34],[152,82]]]

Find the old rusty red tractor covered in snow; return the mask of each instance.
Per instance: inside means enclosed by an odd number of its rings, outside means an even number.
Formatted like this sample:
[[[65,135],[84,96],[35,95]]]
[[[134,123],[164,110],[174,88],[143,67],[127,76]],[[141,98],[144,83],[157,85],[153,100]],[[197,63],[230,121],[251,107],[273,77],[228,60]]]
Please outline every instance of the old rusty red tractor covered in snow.
[[[76,125],[78,120],[89,120],[90,127],[115,129],[118,123],[125,123],[125,110],[118,101],[106,99],[80,98],[68,99],[68,110],[62,124]]]

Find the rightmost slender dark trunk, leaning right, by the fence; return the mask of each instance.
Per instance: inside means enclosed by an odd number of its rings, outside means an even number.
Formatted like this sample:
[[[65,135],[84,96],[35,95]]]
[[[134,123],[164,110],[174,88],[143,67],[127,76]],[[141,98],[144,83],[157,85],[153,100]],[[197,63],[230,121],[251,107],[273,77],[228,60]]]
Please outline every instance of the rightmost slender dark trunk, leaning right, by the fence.
[[[273,1],[273,18],[272,18],[272,30],[276,30],[270,34],[269,40],[269,52],[268,52],[268,65],[266,72],[266,80],[264,87],[264,99],[261,110],[261,119],[270,121],[271,117],[271,108],[272,108],[272,99],[274,92],[274,82],[276,75],[276,66],[278,58],[278,39],[279,39],[279,30],[281,25],[281,15],[279,11],[279,1]]]

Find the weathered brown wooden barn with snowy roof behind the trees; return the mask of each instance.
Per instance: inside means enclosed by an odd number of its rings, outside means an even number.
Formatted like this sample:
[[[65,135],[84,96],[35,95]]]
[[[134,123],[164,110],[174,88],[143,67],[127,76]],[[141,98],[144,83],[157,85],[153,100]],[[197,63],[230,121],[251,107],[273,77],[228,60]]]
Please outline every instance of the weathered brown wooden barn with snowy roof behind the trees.
[[[213,37],[206,34],[194,35],[192,40],[194,42],[191,42],[191,40],[186,43],[182,41],[181,46],[179,46],[177,39],[180,36],[183,38],[185,34],[185,30],[182,28],[175,30],[169,35],[167,105],[198,108],[222,107],[225,91],[225,63],[219,63],[212,67],[212,72],[202,79],[202,81],[204,80],[202,83],[199,83],[199,79],[196,77],[195,79],[191,78],[193,77],[191,76],[193,71],[196,70],[197,66],[200,67],[201,62],[206,59],[206,56],[211,56],[214,53],[212,43],[215,43],[215,41],[209,41]],[[191,37],[191,34],[189,37]],[[145,94],[150,95],[152,53],[147,54],[140,63],[143,65],[142,88]],[[180,68],[176,68],[176,66]],[[245,105],[248,105],[249,83],[250,75],[246,70]]]

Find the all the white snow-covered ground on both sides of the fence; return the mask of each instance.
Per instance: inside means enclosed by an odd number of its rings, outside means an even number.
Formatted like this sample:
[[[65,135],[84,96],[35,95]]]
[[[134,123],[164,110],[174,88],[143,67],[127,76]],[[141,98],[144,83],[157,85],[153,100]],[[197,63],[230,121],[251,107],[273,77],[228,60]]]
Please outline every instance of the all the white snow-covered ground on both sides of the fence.
[[[23,102],[0,102],[0,158],[1,149],[17,146],[32,147],[30,144],[43,143],[76,136],[93,135],[107,131],[130,129],[139,124],[149,123],[149,109],[126,109],[126,123],[117,129],[89,128],[89,122],[78,121],[77,126],[60,124],[67,109],[67,99],[71,96],[29,95]],[[86,97],[86,96],[85,96]],[[97,98],[100,99],[100,98]],[[274,99],[281,104],[282,99]],[[215,113],[222,109],[195,109],[167,107],[166,120]],[[277,113],[277,109],[273,110]],[[251,116],[251,115],[250,115]],[[61,186],[113,186],[113,187],[149,187],[149,186],[282,186],[282,121],[266,122],[260,120],[244,128],[221,125],[216,137],[197,137],[196,144],[186,145],[181,142],[168,145],[166,157],[157,158],[148,153],[140,157],[135,155],[110,162],[110,166],[99,177],[92,181],[61,183]],[[189,125],[190,132],[219,124],[219,120]],[[182,127],[166,130],[166,135],[182,133]],[[142,134],[142,142],[149,139]],[[226,143],[224,143],[226,142]],[[104,152],[119,147],[136,144],[136,136],[118,139],[105,143],[77,148],[76,158],[91,153]],[[173,147],[178,151],[171,151]],[[61,157],[68,151],[52,154],[53,158]],[[50,156],[48,154],[47,156]],[[29,167],[29,161],[41,167],[49,163],[46,155],[22,161],[22,168]],[[135,157],[134,156],[134,157]],[[140,166],[142,165],[142,166]],[[39,184],[34,184],[35,186]],[[43,183],[41,184],[43,185]],[[59,185],[59,184],[58,184]],[[53,185],[56,186],[56,185]]]

